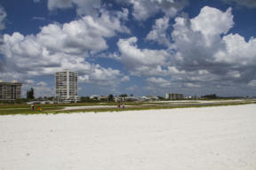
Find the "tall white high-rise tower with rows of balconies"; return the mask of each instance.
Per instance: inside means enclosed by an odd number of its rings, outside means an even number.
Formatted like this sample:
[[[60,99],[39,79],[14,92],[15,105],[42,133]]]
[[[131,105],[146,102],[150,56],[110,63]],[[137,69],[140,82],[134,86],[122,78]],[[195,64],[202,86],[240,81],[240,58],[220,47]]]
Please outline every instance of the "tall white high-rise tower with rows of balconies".
[[[78,82],[76,72],[55,73],[55,97],[60,101],[76,102],[78,100]]]

